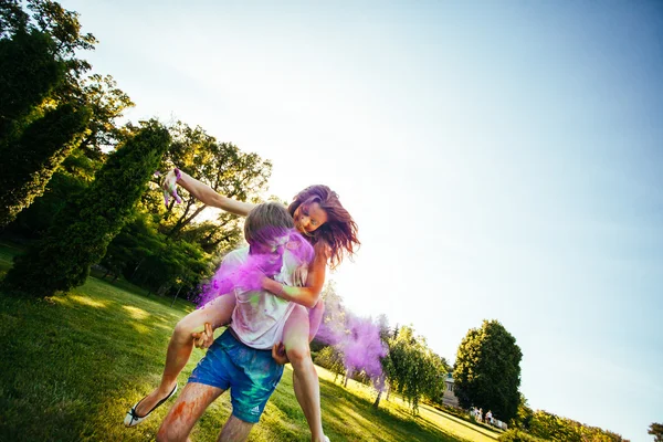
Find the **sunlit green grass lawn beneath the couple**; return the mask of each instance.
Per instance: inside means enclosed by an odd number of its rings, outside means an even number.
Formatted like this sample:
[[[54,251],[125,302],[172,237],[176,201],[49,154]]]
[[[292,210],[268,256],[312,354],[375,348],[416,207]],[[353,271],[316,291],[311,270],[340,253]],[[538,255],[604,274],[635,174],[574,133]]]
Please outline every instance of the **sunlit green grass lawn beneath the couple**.
[[[0,246],[0,270],[14,250]],[[145,297],[108,282],[88,282],[69,295],[18,299],[0,293],[0,440],[154,440],[166,407],[134,429],[122,424],[127,409],[160,378],[175,324],[193,308],[178,301]],[[203,356],[194,350],[180,375],[182,386]],[[398,398],[371,403],[373,391],[350,381],[334,383],[318,368],[323,423],[333,441],[483,441],[496,433],[421,407],[412,417]],[[193,430],[196,441],[215,440],[230,414],[223,394]],[[272,396],[252,441],[306,441],[309,432],[292,389],[288,369]]]

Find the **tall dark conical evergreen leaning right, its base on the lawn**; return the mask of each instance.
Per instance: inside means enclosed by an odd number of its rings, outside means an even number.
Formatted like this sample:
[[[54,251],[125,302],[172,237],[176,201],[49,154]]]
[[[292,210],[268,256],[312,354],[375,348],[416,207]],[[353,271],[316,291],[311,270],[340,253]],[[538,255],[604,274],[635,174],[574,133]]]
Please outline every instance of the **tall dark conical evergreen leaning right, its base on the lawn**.
[[[168,130],[158,122],[145,123],[108,158],[81,198],[56,217],[46,235],[17,256],[4,280],[6,291],[49,296],[83,284],[90,266],[102,260],[133,214],[169,141]]]

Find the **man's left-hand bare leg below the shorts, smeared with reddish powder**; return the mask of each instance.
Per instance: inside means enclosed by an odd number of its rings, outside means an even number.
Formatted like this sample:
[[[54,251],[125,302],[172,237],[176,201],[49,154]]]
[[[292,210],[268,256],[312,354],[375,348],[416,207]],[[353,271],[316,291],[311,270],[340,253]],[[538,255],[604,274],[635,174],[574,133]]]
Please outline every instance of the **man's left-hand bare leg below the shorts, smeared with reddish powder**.
[[[157,433],[158,442],[188,441],[191,429],[200,419],[204,410],[224,390],[206,386],[204,383],[189,382],[168,411],[166,419]]]

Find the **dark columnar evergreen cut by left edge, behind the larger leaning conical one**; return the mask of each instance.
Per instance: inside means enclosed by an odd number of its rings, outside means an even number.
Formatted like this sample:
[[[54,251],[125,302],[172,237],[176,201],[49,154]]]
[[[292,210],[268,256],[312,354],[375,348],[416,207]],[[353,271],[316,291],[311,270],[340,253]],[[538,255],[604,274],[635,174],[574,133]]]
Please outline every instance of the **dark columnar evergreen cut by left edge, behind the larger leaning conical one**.
[[[88,120],[85,107],[64,104],[30,124],[18,139],[0,143],[0,228],[44,192]]]

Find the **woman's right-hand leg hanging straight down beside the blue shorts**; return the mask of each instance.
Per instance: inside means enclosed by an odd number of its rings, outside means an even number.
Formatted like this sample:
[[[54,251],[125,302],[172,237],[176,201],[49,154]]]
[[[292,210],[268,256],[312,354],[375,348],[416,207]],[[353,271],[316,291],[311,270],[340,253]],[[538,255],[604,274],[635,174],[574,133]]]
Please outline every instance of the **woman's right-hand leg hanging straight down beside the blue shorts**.
[[[311,429],[312,441],[324,441],[320,415],[320,386],[308,347],[309,318],[305,307],[297,305],[285,323],[283,344],[293,365],[295,397]]]

